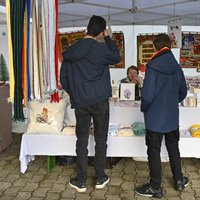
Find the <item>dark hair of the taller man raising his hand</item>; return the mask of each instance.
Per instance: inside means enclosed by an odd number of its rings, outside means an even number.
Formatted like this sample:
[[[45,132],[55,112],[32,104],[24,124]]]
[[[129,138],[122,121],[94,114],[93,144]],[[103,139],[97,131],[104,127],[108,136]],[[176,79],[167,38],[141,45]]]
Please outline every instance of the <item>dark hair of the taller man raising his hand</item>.
[[[93,15],[90,18],[90,21],[88,24],[87,35],[96,37],[101,32],[103,32],[105,29],[106,29],[106,20],[101,16]]]

